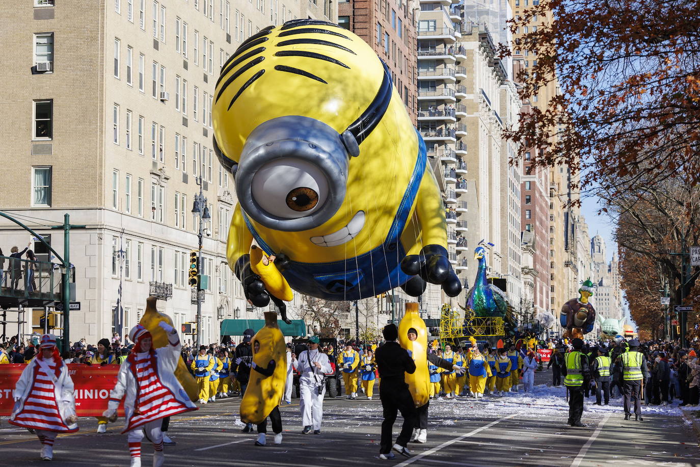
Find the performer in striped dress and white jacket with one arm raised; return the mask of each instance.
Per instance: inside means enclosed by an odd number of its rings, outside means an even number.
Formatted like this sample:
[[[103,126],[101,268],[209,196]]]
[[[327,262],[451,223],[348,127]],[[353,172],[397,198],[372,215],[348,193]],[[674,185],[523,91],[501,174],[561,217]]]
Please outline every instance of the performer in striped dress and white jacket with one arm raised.
[[[165,463],[161,419],[197,407],[175,376],[180,359],[180,338],[177,331],[165,321],[158,326],[168,335],[169,345],[153,349],[153,337],[144,326],[137,324],[129,333],[134,348],[122,363],[117,375],[117,384],[109,393],[109,403],[104,416],[117,418],[117,407],[124,400],[131,467],[141,467],[141,440],[144,433],[153,442],[153,467]]]

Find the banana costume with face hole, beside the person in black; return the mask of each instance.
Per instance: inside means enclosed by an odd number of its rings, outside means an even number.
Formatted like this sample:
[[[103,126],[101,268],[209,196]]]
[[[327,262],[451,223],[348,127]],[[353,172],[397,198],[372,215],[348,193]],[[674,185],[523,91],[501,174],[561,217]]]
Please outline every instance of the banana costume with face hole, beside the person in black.
[[[416,340],[408,338],[408,331],[416,330]],[[421,407],[430,400],[430,372],[428,370],[428,328],[418,310],[418,304],[409,302],[406,304],[406,314],[398,325],[398,342],[401,347],[409,351],[411,358],[416,363],[416,370],[412,374],[405,374],[408,389],[413,396],[416,407]],[[437,367],[435,367],[437,368]]]

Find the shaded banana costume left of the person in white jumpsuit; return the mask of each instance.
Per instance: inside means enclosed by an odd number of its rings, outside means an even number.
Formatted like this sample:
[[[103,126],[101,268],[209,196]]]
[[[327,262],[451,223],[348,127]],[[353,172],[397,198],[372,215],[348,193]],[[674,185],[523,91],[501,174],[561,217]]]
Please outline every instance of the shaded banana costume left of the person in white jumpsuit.
[[[255,350],[256,344],[259,344],[258,350]],[[261,424],[282,400],[287,379],[287,347],[277,325],[276,313],[265,313],[265,326],[255,333],[251,346],[253,363],[246,393],[241,400],[241,421]],[[258,366],[272,370],[272,374],[267,376],[255,370]]]

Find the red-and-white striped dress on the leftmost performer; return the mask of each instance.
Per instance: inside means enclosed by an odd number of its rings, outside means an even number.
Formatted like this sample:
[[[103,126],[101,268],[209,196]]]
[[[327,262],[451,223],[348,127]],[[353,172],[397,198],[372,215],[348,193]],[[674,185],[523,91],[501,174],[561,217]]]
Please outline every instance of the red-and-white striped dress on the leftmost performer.
[[[54,360],[47,360],[46,363],[50,371],[56,375],[58,363]],[[10,423],[35,430],[61,433],[78,431],[77,426],[71,429],[61,418],[56,402],[53,378],[45,373],[41,365],[37,363],[34,365],[34,382],[27,393],[25,404],[22,410],[13,419],[10,419]]]

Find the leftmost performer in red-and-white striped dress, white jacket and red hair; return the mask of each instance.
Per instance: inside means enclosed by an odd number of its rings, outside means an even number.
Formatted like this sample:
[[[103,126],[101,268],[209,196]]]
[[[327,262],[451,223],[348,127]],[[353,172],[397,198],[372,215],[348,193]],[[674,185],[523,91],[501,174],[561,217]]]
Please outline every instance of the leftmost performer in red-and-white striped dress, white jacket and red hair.
[[[22,371],[14,398],[10,424],[36,430],[40,457],[50,461],[56,435],[78,431],[73,380],[58,353],[55,335],[41,336],[39,354]]]

